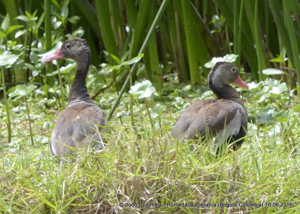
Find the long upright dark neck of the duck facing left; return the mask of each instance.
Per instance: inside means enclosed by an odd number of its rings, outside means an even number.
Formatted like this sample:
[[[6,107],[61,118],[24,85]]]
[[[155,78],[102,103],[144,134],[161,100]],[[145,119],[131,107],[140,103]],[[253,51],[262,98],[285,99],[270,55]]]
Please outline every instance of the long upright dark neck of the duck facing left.
[[[74,102],[93,102],[85,85],[85,78],[90,66],[90,57],[82,57],[77,60],[77,71],[73,80],[68,105]]]

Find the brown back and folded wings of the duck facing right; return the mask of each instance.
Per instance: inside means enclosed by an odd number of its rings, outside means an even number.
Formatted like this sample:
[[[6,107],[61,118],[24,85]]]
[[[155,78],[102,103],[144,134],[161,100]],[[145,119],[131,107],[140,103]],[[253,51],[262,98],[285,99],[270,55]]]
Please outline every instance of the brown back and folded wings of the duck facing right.
[[[247,130],[247,111],[244,105],[229,99],[210,99],[195,102],[176,121],[171,135],[179,142],[214,136],[244,137]],[[241,144],[240,142],[239,144]]]

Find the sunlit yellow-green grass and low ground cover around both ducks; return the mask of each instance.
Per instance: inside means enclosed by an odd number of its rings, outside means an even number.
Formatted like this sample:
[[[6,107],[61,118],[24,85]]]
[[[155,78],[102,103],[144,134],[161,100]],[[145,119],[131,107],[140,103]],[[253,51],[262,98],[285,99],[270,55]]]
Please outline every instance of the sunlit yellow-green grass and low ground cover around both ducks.
[[[246,99],[252,99],[250,93]],[[114,99],[105,95],[108,100]],[[205,93],[202,96],[211,96]],[[201,97],[202,98],[202,97]],[[184,104],[192,100],[186,98]],[[80,154],[77,162],[56,164],[49,149],[58,112],[30,98],[36,147],[31,146],[24,104],[12,112],[13,143],[7,145],[6,125],[1,122],[1,213],[298,213],[300,211],[299,122],[293,126],[297,151],[285,138],[289,127],[249,123],[248,136],[236,153],[215,158],[213,143],[176,144],[169,133],[179,114],[175,103],[166,102],[160,120],[149,122],[145,104],[130,116],[114,117],[108,128],[107,147],[99,153]],[[33,104],[36,103],[36,104]],[[153,102],[155,103],[155,102]],[[296,101],[295,101],[296,103]],[[257,103],[246,104],[249,112]],[[35,107],[33,107],[35,106]],[[36,107],[37,106],[37,107]],[[129,96],[116,112],[129,111]],[[1,106],[3,112],[4,106]],[[142,109],[142,110],[141,110]],[[108,110],[105,110],[108,113]],[[299,115],[290,111],[290,120]],[[299,118],[299,117],[298,117]],[[46,123],[46,124],[45,124]],[[190,142],[195,143],[195,142]],[[21,150],[19,150],[21,145]],[[120,207],[119,203],[157,203],[162,207]],[[167,207],[167,203],[216,203],[217,207]],[[218,207],[218,203],[263,203],[264,207]],[[266,207],[266,202],[276,207]],[[279,207],[292,203],[293,207]],[[165,206],[163,206],[165,205]],[[284,205],[284,204],[282,204]]]

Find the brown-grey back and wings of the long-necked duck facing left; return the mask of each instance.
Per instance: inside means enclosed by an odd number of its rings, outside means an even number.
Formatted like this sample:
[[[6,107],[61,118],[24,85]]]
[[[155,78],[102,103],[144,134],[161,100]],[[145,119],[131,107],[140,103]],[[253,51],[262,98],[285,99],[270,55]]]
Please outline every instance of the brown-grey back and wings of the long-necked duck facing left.
[[[92,115],[92,117],[91,117]],[[103,147],[106,126],[104,112],[97,106],[83,109],[66,108],[60,112],[51,137],[51,153],[64,157],[77,148],[86,147],[91,141],[96,150]]]

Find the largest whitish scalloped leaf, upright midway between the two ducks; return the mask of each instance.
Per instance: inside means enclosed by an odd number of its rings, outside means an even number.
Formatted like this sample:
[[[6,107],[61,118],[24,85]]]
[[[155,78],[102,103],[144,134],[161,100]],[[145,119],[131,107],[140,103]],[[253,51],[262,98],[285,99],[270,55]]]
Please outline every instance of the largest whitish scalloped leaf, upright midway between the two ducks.
[[[152,93],[156,92],[156,89],[152,86],[152,83],[147,79],[141,83],[136,83],[130,87],[129,93],[139,95],[138,98],[151,97]]]

